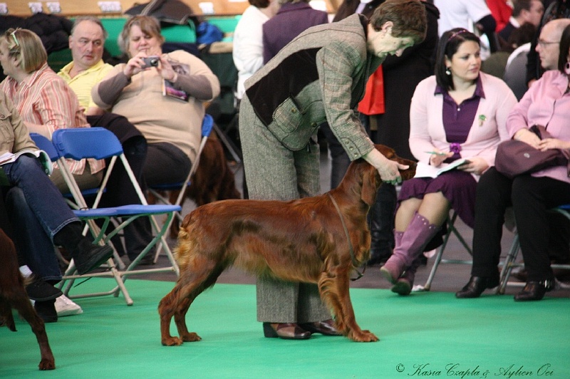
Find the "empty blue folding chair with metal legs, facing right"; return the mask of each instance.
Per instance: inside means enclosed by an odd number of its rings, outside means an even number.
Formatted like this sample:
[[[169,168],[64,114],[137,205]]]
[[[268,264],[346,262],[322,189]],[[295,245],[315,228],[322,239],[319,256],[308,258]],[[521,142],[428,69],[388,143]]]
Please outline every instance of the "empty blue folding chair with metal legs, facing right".
[[[119,292],[123,292],[123,296],[125,296],[125,301],[128,305],[133,304],[132,298],[130,298],[128,291],[124,285],[124,281],[127,276],[133,274],[148,274],[154,272],[165,272],[165,271],[174,271],[177,275],[179,274],[179,269],[172,256],[172,252],[166,242],[164,237],[165,232],[168,229],[168,225],[172,221],[172,217],[174,217],[175,212],[180,212],[180,206],[177,205],[148,205],[145,199],[144,194],[140,190],[138,182],[133,174],[133,171],[130,169],[130,165],[123,154],[123,147],[120,145],[119,140],[113,133],[109,130],[104,128],[70,128],[70,129],[60,129],[56,130],[53,133],[53,145],[56,147],[56,150],[59,153],[60,158],[58,159],[58,164],[60,166],[61,172],[63,177],[65,178],[68,187],[71,189],[71,193],[73,194],[73,198],[75,199],[76,203],[79,205],[80,209],[74,210],[77,217],[80,219],[93,223],[93,219],[103,219],[103,226],[98,227],[90,227],[90,230],[95,238],[95,243],[106,243],[109,242],[112,237],[116,234],[121,232],[128,224],[133,222],[134,219],[138,217],[149,217],[152,227],[155,231],[155,237],[152,241],[143,249],[139,256],[127,267],[125,271],[118,271],[115,267],[113,259],[108,261],[110,272],[96,272],[90,273],[85,275],[74,275],[76,269],[73,265],[73,261],[71,262],[70,266],[66,270],[66,273],[63,276],[63,281],[61,283],[61,288],[65,286],[64,294],[68,295],[71,286],[73,286],[73,281],[78,278],[86,278],[86,277],[94,277],[94,276],[113,276],[115,281],[117,282],[117,286],[107,292],[99,292],[95,294],[81,294],[75,296],[69,296],[70,298],[81,298],[81,297],[93,297],[93,296],[104,296],[113,294],[118,296]],[[90,209],[86,204],[81,191],[79,190],[77,183],[75,182],[71,171],[66,163],[64,158],[71,158],[73,160],[81,160],[84,158],[94,158],[94,159],[106,159],[110,158],[110,162],[108,168],[105,172],[105,176],[103,177],[103,181],[100,185],[100,188],[95,196],[95,201],[93,203],[93,207]],[[123,163],[125,167],[125,171],[127,172],[130,182],[133,184],[135,188],[141,204],[132,204],[132,205],[123,205],[120,207],[105,207],[105,208],[96,208],[100,202],[100,198],[103,194],[103,190],[107,185],[110,173],[113,171],[113,167],[115,166],[115,162],[117,159]],[[166,214],[167,221],[165,224],[160,227],[155,220],[155,215],[158,214]],[[106,234],[108,225],[112,218],[120,217],[123,219],[113,232]],[[94,224],[94,223],[93,223]],[[136,269],[135,267],[138,265],[140,259],[142,259],[145,254],[147,254],[150,249],[152,249],[155,244],[160,243],[163,249],[165,249],[168,259],[170,260],[171,266],[160,268],[160,269]],[[68,283],[66,283],[68,282]]]

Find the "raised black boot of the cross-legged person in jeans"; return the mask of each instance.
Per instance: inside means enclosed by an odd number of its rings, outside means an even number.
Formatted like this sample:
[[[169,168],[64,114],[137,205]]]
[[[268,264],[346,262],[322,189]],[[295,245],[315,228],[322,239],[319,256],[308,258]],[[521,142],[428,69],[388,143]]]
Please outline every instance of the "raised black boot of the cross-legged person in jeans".
[[[81,234],[81,224],[72,222],[63,227],[55,236],[53,243],[66,248],[71,254],[80,275],[93,271],[113,256],[110,246],[94,245]]]

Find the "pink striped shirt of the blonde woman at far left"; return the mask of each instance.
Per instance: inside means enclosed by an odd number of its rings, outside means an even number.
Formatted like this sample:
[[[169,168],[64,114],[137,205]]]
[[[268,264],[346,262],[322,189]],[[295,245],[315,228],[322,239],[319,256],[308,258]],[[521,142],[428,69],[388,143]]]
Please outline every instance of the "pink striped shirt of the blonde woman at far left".
[[[44,126],[50,138],[58,129],[90,127],[76,94],[47,63],[21,83],[11,77],[4,79],[0,88],[14,102],[24,123]],[[83,174],[85,160],[67,162],[73,174]],[[90,159],[89,165],[95,174],[105,168],[105,161]]]

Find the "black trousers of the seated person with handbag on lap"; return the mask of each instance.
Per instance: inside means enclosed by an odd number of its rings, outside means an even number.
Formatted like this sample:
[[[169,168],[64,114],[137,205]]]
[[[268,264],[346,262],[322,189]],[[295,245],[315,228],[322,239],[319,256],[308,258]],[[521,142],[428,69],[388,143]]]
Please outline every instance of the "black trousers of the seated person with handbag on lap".
[[[569,223],[548,209],[569,203],[569,183],[531,175],[509,179],[489,168],[477,183],[472,275],[497,275],[504,212],[512,206],[527,280],[553,279],[549,255],[568,254]]]

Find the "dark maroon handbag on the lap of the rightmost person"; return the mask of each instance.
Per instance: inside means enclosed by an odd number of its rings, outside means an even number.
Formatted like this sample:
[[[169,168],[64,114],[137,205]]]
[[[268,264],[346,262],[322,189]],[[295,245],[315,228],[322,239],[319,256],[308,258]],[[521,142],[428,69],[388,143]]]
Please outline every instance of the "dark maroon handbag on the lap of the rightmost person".
[[[533,125],[529,130],[538,135],[542,140],[551,138],[551,135],[542,125]],[[519,140],[508,140],[499,143],[497,155],[495,155],[494,166],[498,172],[507,177],[529,174],[543,170],[547,167],[569,166],[569,152],[562,152],[559,149],[540,151],[526,142]]]

